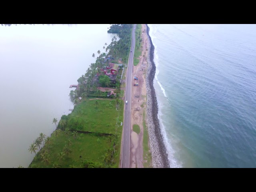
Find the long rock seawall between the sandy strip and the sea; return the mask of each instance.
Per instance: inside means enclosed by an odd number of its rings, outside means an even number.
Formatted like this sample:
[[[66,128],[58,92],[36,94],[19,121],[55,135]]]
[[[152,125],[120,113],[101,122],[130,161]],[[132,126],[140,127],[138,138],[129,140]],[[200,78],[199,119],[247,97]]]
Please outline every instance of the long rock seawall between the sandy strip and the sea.
[[[164,138],[161,133],[160,122],[158,119],[158,102],[154,89],[154,78],[156,65],[154,63],[154,45],[149,35],[149,27],[146,24],[146,35],[148,38],[148,70],[146,72],[146,94],[147,109],[146,121],[152,154],[152,166],[154,168],[170,168]]]

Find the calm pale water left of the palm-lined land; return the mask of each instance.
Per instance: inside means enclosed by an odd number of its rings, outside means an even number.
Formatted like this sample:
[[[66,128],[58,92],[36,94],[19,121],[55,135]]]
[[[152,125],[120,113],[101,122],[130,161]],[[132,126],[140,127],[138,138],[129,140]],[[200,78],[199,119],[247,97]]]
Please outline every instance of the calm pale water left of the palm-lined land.
[[[109,24],[0,25],[0,168],[28,167],[28,151],[52,119],[70,113],[70,84],[116,34]]]

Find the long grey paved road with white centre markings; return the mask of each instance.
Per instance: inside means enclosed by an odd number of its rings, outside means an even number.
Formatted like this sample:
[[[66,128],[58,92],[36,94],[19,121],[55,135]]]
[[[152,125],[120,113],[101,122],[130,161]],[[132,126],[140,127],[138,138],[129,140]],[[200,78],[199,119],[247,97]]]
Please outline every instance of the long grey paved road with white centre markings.
[[[128,59],[128,68],[126,76],[126,88],[125,88],[125,101],[128,104],[124,104],[124,135],[122,142],[122,166],[121,168],[130,168],[130,131],[131,131],[131,99],[132,99],[132,66],[135,46],[135,28],[134,24],[132,29],[132,46],[130,56]]]

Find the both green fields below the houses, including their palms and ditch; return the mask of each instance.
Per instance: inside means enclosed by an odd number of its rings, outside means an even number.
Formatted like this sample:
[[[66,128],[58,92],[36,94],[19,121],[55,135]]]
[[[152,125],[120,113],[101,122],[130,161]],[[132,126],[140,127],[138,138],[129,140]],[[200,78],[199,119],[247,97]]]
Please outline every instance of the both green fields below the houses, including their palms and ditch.
[[[29,167],[118,168],[123,107],[120,99],[84,100],[71,114],[62,116],[59,128],[44,140]],[[40,148],[42,136],[30,146],[31,153]]]

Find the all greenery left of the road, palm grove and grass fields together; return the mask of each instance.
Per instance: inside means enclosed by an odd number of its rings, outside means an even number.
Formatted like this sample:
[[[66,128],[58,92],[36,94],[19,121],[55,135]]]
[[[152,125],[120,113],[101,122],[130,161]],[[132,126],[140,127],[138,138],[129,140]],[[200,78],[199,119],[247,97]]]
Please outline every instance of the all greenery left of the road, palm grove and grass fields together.
[[[105,43],[108,55],[127,61],[131,30],[130,24],[118,27],[120,40],[114,37],[108,46]],[[40,134],[30,146],[29,151],[36,154],[30,168],[118,168],[124,114],[124,102],[120,99],[124,94],[120,90],[121,75],[116,84],[110,83],[100,70],[108,66],[107,54],[100,50],[97,54],[96,62],[78,78],[78,88],[70,91],[74,101],[72,113],[63,115],[59,122],[54,118],[56,130],[51,137]],[[95,54],[92,57],[95,58]],[[108,91],[102,92],[98,86],[116,87],[116,95],[107,96]]]

